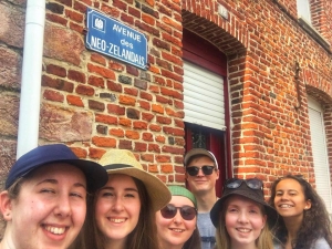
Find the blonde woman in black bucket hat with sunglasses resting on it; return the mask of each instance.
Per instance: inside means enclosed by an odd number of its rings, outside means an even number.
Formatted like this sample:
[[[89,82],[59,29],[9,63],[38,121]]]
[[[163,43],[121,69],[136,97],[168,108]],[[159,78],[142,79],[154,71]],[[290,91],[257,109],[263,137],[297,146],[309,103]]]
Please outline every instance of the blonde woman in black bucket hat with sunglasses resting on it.
[[[216,249],[273,248],[270,229],[278,214],[264,201],[263,184],[258,178],[227,180],[210,218],[217,228]]]

